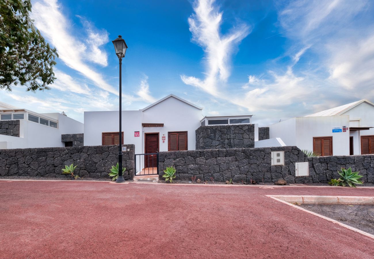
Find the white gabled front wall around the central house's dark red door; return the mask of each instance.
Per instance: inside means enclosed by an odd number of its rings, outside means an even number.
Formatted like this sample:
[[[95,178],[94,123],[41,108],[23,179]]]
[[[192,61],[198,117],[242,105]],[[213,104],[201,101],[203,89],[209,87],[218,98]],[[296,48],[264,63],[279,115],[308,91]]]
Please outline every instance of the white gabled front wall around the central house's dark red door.
[[[164,127],[144,127],[143,135],[145,132],[159,132],[160,151],[168,151],[168,132],[187,131],[188,150],[194,150],[196,148],[195,130],[200,127],[202,118],[202,110],[170,97],[143,112],[143,123],[164,124]],[[165,134],[165,143],[162,143],[162,134]]]

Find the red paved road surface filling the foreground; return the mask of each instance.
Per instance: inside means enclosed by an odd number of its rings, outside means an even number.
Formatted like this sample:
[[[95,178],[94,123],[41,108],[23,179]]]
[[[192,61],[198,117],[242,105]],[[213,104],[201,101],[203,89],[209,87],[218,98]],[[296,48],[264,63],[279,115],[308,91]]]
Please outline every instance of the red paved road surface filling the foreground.
[[[374,189],[0,181],[1,258],[374,258],[374,240],[267,194]]]

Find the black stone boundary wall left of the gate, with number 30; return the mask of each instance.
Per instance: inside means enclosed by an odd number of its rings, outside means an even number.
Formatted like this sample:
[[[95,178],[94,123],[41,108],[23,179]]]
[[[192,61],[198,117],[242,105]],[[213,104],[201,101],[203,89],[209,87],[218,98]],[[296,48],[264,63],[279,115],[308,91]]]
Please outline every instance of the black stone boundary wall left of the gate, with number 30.
[[[123,152],[123,177],[134,179],[135,145],[126,144]],[[0,149],[0,176],[42,176],[69,178],[62,174],[65,165],[77,165],[80,177],[110,178],[112,165],[117,164],[118,146],[42,147]]]

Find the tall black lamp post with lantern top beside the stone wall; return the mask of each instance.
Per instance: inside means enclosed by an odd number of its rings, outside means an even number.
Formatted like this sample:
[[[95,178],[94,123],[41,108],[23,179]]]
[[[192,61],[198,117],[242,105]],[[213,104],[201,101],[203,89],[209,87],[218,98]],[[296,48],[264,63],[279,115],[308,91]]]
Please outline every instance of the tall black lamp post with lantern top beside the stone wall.
[[[119,59],[119,149],[118,149],[118,178],[116,183],[123,183],[125,179],[122,173],[122,58],[125,57],[127,45],[121,35],[113,40],[114,49]]]

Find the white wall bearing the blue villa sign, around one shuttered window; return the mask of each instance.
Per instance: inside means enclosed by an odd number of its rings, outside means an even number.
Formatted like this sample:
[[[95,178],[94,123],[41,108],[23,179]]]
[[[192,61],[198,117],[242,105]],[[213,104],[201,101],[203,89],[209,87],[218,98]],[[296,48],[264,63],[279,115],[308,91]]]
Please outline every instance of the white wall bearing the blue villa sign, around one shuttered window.
[[[349,125],[349,116],[298,117],[296,119],[296,146],[313,150],[313,137],[332,136],[332,154],[349,155],[349,131],[332,133],[333,127]]]

